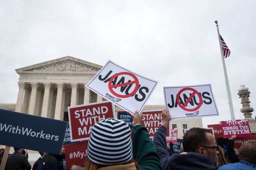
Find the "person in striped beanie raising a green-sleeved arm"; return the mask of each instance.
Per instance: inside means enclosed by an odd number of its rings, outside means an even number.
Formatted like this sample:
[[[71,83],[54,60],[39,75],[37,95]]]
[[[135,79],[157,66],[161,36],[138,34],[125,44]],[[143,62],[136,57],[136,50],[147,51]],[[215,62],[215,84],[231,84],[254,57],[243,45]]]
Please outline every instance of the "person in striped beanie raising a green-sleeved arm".
[[[117,119],[97,122],[88,141],[85,170],[161,170],[160,158],[148,131],[141,126],[143,114],[133,118],[133,134],[129,126]],[[137,162],[136,162],[136,161]]]

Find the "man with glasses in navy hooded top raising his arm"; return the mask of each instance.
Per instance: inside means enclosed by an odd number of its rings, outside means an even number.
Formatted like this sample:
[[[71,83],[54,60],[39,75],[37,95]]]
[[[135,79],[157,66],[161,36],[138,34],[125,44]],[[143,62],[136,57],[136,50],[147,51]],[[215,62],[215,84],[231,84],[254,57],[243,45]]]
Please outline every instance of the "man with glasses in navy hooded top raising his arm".
[[[196,169],[215,170],[218,164],[219,151],[215,138],[208,129],[191,128],[183,136],[182,154],[169,156],[166,144],[166,131],[171,116],[169,110],[162,111],[162,126],[154,135],[156,151],[160,156],[163,170],[172,169]]]

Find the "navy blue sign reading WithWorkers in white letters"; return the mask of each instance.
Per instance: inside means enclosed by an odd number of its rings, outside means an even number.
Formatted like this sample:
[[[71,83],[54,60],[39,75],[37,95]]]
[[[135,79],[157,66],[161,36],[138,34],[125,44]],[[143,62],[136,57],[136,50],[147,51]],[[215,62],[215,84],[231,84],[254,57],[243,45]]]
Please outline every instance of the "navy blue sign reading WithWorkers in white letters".
[[[0,109],[0,144],[60,155],[67,124]]]

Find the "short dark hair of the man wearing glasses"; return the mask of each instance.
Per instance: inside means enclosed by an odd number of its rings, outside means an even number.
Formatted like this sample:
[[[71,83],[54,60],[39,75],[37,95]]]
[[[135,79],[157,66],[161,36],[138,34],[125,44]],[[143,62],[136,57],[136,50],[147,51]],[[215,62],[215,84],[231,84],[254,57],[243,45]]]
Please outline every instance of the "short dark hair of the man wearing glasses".
[[[182,145],[185,152],[197,152],[199,147],[208,146],[210,144],[206,133],[210,130],[204,128],[191,128],[184,135]]]

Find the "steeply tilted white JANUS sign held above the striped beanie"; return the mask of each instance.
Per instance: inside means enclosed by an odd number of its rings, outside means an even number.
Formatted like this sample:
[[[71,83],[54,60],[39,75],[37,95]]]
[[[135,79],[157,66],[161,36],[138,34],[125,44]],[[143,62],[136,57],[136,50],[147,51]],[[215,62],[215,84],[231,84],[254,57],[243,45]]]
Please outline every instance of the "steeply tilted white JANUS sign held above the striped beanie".
[[[108,60],[85,87],[135,115],[136,109],[142,111],[157,84]]]

